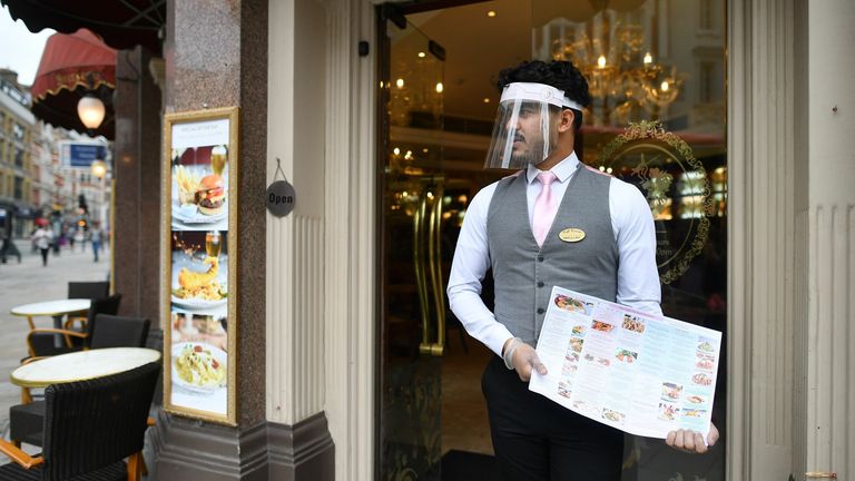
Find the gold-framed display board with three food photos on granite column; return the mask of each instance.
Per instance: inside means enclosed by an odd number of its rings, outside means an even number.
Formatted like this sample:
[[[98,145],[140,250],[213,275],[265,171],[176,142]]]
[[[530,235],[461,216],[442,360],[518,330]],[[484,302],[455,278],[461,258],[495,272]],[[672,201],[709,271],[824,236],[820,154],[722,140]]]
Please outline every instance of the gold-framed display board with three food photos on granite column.
[[[237,107],[165,116],[164,408],[237,414]]]

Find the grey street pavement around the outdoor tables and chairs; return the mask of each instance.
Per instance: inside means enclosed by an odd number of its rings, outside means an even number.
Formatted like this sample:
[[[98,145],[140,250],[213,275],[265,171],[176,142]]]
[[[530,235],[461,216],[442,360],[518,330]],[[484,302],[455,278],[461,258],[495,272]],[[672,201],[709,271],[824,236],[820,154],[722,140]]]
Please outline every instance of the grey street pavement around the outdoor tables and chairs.
[[[47,267],[41,265],[41,255],[30,252],[29,242],[16,240],[21,251],[21,263],[11,257],[7,264],[0,264],[0,432],[8,439],[9,408],[21,402],[21,390],[9,382],[9,374],[27,356],[27,333],[29,326],[24,317],[17,317],[9,312],[12,307],[66,298],[69,281],[106,281],[110,263],[109,251],[100,252],[100,261],[95,263],[89,245],[81,252],[79,244],[75,252],[68,247],[59,255],[50,253]],[[33,318],[37,327],[52,327],[50,317]],[[6,461],[0,460],[0,464]]]

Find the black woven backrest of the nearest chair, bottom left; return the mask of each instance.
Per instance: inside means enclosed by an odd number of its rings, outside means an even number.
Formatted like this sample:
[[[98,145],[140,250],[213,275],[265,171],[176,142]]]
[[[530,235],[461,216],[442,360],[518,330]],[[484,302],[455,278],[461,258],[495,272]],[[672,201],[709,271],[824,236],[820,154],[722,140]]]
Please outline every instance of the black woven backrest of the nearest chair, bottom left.
[[[158,363],[45,390],[42,479],[66,480],[142,450]]]

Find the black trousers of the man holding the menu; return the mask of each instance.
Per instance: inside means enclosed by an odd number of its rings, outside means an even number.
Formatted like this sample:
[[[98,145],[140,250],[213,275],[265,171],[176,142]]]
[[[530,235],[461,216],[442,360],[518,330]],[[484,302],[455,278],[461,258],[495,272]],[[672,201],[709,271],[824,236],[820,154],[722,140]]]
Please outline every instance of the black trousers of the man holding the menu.
[[[623,433],[529,391],[493,356],[481,377],[499,470],[508,481],[619,481]]]

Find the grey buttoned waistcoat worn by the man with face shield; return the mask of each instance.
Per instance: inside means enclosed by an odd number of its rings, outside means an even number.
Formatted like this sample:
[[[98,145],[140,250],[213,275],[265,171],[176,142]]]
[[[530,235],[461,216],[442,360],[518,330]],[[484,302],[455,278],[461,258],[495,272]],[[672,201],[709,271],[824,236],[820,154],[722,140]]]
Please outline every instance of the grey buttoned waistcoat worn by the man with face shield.
[[[534,345],[552,286],[615,302],[618,245],[611,227],[611,178],[580,165],[570,179],[552,227],[538,247],[529,224],[525,173],[499,181],[487,217],[487,239],[495,281],[495,318]],[[568,243],[558,234],[582,229]]]

